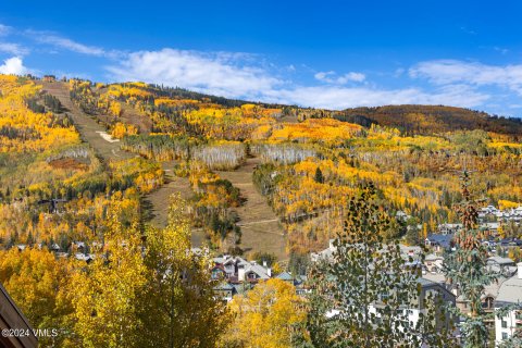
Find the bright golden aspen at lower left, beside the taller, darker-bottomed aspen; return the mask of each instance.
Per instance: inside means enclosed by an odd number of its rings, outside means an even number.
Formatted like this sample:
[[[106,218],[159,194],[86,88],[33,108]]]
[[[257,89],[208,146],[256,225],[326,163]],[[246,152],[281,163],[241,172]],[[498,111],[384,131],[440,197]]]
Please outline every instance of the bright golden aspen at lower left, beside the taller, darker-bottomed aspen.
[[[142,330],[137,298],[146,284],[139,222],[124,225],[123,207],[111,202],[104,248],[73,276],[74,331],[83,347],[137,347]]]

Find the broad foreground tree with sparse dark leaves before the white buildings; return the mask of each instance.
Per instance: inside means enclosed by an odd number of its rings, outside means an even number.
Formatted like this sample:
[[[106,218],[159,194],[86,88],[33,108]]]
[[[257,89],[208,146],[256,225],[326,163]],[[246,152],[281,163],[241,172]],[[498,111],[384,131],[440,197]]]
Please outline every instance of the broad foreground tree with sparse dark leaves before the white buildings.
[[[437,296],[425,298],[419,321],[408,308],[419,301],[419,266],[403,260],[397,243],[383,244],[390,219],[369,184],[349,201],[344,233],[332,260],[310,271],[307,328],[313,347],[451,347],[452,326]],[[304,347],[304,345],[301,345]]]

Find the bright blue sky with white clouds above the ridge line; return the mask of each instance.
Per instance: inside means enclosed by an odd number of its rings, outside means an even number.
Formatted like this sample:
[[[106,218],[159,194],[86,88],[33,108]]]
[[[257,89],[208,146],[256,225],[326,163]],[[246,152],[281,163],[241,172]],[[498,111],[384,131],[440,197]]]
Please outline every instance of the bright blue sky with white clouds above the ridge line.
[[[520,1],[7,1],[0,72],[520,116]]]

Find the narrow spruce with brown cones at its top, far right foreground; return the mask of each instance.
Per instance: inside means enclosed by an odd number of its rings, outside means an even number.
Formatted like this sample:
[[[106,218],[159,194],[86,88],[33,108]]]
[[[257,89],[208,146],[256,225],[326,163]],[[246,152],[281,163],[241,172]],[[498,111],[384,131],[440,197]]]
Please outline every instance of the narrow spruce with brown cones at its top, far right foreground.
[[[487,347],[488,332],[485,320],[490,316],[484,312],[481,297],[485,287],[495,282],[496,276],[486,269],[487,249],[481,239],[484,232],[477,227],[477,207],[481,202],[475,200],[470,192],[470,173],[463,171],[461,177],[462,201],[456,206],[456,210],[462,223],[462,229],[453,238],[455,251],[446,258],[446,277],[450,283],[460,287],[464,300],[470,307],[469,315],[462,315],[460,331],[464,347]]]

